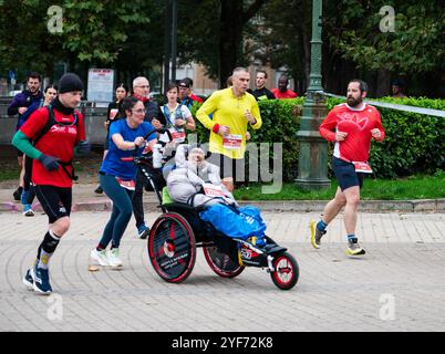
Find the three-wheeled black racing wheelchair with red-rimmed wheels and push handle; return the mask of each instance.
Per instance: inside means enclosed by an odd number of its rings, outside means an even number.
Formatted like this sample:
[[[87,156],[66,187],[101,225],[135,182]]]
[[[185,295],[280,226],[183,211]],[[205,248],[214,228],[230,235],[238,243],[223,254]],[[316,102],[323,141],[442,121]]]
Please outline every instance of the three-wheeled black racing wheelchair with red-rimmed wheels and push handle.
[[[156,132],[167,133],[172,139],[167,129]],[[200,219],[199,212],[205,206],[163,200],[168,199],[166,187],[164,190],[156,188],[149,174],[153,157],[143,155],[135,157],[134,162],[151,184],[163,212],[151,228],[147,244],[152,266],[163,280],[172,283],[185,281],[195,267],[197,249],[201,248],[208,266],[219,277],[235,278],[246,267],[257,267],[266,269],[281,290],[290,290],[297,284],[299,266],[286,248],[267,236],[262,247],[256,246],[255,240],[230,238]]]

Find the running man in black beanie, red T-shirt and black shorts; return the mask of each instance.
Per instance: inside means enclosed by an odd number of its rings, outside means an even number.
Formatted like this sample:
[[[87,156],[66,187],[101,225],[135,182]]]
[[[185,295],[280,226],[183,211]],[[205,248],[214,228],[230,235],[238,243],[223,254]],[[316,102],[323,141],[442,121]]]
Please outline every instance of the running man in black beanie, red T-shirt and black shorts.
[[[80,153],[90,149],[83,117],[75,111],[81,102],[83,83],[77,75],[68,73],[59,84],[59,96],[51,106],[32,113],[12,139],[17,148],[34,159],[31,180],[49,218],[49,231],[39,247],[35,264],[23,278],[28,288],[44,294],[52,292],[50,259],[70,228],[74,146],[79,145]]]

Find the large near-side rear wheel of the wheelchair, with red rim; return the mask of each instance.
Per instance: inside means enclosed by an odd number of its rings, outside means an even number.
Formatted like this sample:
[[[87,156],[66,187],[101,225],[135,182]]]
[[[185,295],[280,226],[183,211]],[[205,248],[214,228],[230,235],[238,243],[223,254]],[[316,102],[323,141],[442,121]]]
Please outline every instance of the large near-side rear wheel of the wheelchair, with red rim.
[[[176,212],[161,216],[149,232],[148,254],[162,279],[172,283],[186,280],[196,260],[195,236],[187,220]]]

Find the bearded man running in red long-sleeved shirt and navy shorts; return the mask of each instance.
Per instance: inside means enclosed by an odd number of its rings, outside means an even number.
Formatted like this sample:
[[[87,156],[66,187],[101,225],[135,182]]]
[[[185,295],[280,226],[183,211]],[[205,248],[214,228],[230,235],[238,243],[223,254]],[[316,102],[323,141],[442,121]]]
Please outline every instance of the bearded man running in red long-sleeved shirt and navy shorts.
[[[332,168],[339,183],[335,197],[324,207],[321,220],[311,221],[311,242],[320,248],[327,226],[344,207],[344,226],[348,233],[346,253],[364,254],[355,237],[360,188],[364,174],[372,173],[368,159],[371,140],[382,142],[385,132],[380,113],[363,102],[366,96],[365,82],[354,79],[348,85],[346,103],[335,106],[321,123],[319,132],[329,142],[334,142]]]

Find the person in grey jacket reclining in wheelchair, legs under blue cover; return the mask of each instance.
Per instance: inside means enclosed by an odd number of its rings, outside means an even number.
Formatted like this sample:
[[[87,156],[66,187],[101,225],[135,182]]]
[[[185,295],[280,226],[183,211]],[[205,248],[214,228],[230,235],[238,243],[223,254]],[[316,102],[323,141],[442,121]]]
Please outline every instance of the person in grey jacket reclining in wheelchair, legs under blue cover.
[[[241,238],[257,247],[265,247],[266,223],[256,207],[240,208],[219,176],[219,167],[206,162],[201,147],[179,145],[176,169],[167,177],[169,197],[176,202],[203,209],[204,221],[231,238]]]

